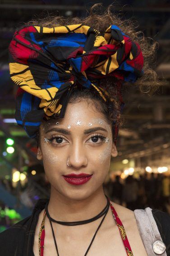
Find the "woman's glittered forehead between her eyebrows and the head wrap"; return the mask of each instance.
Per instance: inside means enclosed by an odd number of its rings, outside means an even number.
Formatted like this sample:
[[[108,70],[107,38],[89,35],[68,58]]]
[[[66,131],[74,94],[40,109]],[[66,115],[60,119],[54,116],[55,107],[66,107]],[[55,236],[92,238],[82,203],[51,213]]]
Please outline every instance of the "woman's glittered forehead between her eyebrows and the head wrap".
[[[106,116],[101,113],[100,109],[96,108],[93,102],[86,100],[68,103],[64,118],[50,118],[45,125],[51,126],[58,122],[58,125],[68,126],[69,124],[76,125],[78,121],[81,122],[81,125],[87,125],[87,123],[90,122],[108,125],[108,120]]]

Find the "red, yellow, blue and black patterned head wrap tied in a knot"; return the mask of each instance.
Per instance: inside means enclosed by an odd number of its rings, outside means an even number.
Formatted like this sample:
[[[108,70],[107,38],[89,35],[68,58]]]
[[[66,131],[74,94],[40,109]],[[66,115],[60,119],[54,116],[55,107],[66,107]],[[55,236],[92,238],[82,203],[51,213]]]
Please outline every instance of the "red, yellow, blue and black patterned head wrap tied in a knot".
[[[10,76],[19,86],[17,123],[35,137],[44,115],[64,117],[76,82],[96,89],[106,100],[96,80],[114,76],[119,82],[134,82],[142,76],[142,66],[138,43],[115,25],[104,37],[82,24],[24,27],[14,33],[9,45]]]

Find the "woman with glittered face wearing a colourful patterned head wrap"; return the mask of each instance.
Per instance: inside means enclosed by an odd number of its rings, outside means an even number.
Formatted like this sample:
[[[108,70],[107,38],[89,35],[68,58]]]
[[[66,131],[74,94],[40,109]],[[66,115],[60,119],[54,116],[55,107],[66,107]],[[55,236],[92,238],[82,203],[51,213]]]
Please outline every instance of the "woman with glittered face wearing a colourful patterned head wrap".
[[[133,212],[110,202],[102,186],[117,156],[121,85],[143,73],[141,81],[149,75],[156,83],[148,66],[153,49],[110,8],[103,15],[92,10],[86,19],[32,22],[14,34],[9,68],[19,86],[15,116],[37,139],[51,195],[0,234],[1,255],[170,253],[168,214]]]

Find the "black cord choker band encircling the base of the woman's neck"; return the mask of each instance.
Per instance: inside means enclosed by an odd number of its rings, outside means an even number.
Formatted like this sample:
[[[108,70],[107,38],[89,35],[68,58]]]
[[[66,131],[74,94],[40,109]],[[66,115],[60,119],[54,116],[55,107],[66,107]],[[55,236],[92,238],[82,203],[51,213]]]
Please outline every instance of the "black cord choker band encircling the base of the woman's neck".
[[[49,220],[51,220],[52,222],[55,222],[55,223],[58,223],[58,224],[61,224],[61,225],[65,225],[65,226],[77,226],[77,225],[87,224],[87,223],[90,223],[90,222],[95,221],[95,220],[98,219],[98,218],[101,218],[105,213],[108,212],[109,206],[110,206],[110,201],[109,201],[109,199],[108,199],[107,196],[106,196],[106,199],[107,199],[107,204],[106,204],[105,208],[104,208],[99,214],[97,214],[95,217],[90,218],[90,219],[86,219],[86,220],[82,220],[82,221],[73,221],[73,222],[65,222],[65,221],[58,221],[58,220],[55,220],[54,218],[51,218],[51,217],[50,217],[50,214],[49,214],[49,212],[48,212],[48,203],[46,203],[46,206],[45,206],[45,209],[46,209],[46,216],[47,216],[47,217],[49,218]]]

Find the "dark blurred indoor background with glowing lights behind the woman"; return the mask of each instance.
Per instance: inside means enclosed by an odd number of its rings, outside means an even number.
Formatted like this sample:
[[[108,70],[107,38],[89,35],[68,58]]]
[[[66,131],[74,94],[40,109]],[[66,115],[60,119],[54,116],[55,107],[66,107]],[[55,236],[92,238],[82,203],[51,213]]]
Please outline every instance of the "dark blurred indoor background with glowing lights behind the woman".
[[[38,199],[50,196],[36,143],[14,119],[17,88],[9,76],[9,42],[15,29],[35,15],[59,11],[83,17],[97,2],[0,0],[0,232],[29,216]],[[111,3],[105,0],[103,8]],[[154,69],[161,84],[148,94],[127,88],[118,157],[111,160],[104,189],[129,209],[149,206],[170,213],[170,2],[117,0],[114,6],[122,19],[138,21],[138,30],[159,43]]]

